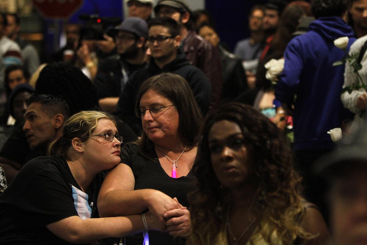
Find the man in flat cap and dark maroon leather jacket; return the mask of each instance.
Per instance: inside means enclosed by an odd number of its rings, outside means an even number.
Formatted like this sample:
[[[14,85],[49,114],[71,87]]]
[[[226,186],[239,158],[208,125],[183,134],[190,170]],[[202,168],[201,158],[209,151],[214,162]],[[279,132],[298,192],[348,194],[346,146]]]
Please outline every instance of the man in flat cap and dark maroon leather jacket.
[[[201,69],[211,82],[210,109],[217,107],[222,96],[223,77],[217,49],[195,32],[190,9],[183,0],[160,0],[154,8],[158,17],[174,19],[180,29],[181,50],[190,63]]]

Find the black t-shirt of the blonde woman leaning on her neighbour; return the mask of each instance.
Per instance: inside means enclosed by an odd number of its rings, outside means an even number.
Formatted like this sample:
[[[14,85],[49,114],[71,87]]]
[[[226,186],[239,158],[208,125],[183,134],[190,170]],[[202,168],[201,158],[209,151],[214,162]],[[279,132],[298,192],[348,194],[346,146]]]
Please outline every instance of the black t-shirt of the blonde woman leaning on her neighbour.
[[[103,174],[97,174],[87,191],[91,217],[98,217],[102,181]],[[0,195],[0,244],[70,244],[46,225],[81,213],[77,205],[82,200],[73,197],[71,185],[81,190],[62,156],[40,156],[26,163]]]

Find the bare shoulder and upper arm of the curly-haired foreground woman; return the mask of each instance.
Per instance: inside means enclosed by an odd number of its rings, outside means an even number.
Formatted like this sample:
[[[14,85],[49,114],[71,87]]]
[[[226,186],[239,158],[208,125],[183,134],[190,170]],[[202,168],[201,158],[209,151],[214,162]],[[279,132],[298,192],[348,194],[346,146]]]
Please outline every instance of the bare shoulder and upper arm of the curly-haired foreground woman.
[[[330,244],[331,237],[324,217],[321,215],[317,206],[306,202],[305,214],[303,217],[303,227],[306,232],[317,235],[317,237],[306,242],[307,245],[325,245]]]

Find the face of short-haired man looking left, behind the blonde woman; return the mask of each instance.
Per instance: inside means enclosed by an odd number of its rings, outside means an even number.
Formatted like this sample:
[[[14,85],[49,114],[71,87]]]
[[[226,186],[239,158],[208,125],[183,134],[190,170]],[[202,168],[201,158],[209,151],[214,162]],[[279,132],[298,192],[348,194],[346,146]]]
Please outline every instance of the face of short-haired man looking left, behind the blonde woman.
[[[55,118],[47,113],[45,107],[39,102],[34,102],[24,114],[23,131],[31,149],[45,146],[56,137]]]

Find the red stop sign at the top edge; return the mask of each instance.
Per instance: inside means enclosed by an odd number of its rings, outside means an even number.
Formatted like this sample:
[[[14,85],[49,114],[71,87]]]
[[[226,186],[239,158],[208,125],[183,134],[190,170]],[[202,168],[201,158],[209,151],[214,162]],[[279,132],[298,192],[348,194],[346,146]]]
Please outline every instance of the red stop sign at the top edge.
[[[46,18],[66,19],[82,6],[83,0],[32,0]]]

